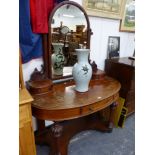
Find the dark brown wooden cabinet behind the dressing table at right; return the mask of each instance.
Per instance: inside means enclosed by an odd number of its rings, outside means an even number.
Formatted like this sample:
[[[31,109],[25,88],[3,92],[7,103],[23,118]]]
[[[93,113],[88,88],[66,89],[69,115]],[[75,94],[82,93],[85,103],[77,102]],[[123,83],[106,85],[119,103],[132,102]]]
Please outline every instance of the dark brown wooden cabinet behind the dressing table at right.
[[[135,60],[128,57],[107,59],[105,72],[121,83],[120,96],[125,98],[128,115],[135,111]]]

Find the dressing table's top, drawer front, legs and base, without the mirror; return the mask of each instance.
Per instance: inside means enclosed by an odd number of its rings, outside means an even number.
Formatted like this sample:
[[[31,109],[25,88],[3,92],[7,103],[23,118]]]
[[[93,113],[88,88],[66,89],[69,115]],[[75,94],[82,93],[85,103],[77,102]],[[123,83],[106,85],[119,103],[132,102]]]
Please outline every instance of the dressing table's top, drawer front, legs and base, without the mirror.
[[[52,92],[34,96],[32,114],[38,119],[36,143],[49,145],[51,155],[67,155],[69,140],[80,131],[112,131],[120,83],[105,76],[91,80],[88,92],[76,92],[74,87],[73,81],[60,83],[53,85]],[[109,121],[103,122],[100,111],[108,106]],[[45,120],[54,124],[45,128]]]

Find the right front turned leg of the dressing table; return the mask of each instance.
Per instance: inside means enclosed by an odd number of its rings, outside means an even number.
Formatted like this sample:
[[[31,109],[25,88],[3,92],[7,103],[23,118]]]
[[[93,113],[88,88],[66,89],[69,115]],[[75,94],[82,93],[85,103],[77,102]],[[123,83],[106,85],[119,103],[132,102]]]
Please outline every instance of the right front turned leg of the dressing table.
[[[113,126],[114,126],[114,112],[115,112],[115,108],[117,106],[117,102],[114,102],[113,104],[110,105],[110,117],[109,117],[109,124],[108,124],[108,128],[109,128],[109,132],[112,132]]]

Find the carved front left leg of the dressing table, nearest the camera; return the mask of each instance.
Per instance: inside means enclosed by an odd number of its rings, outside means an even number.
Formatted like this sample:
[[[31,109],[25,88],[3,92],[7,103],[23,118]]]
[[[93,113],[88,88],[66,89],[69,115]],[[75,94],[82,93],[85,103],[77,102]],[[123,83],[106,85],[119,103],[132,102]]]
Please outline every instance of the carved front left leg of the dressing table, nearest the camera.
[[[67,143],[63,139],[63,126],[54,123],[51,127],[52,141],[50,155],[67,155]]]

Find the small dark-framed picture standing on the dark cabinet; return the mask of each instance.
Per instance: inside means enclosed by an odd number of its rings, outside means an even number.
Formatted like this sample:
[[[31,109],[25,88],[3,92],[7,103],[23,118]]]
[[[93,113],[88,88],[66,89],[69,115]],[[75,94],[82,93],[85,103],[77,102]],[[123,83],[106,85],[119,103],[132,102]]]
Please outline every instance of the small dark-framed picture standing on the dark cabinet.
[[[120,37],[109,36],[108,38],[108,59],[118,58],[120,55]]]

